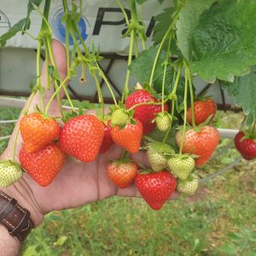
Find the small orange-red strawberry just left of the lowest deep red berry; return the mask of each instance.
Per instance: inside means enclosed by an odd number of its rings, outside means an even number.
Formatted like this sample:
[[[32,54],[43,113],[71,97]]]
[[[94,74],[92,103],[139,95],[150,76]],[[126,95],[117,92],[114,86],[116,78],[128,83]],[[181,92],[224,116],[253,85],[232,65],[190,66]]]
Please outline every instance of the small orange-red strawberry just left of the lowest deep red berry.
[[[108,177],[120,189],[127,188],[137,174],[137,165],[130,161],[113,161],[108,164]]]

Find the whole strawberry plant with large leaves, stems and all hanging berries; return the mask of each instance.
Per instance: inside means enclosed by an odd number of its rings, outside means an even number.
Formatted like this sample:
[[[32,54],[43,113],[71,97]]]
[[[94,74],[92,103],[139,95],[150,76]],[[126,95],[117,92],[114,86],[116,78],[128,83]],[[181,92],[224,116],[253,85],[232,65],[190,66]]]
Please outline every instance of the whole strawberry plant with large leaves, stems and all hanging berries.
[[[57,43],[52,39],[49,24],[50,0],[44,2],[44,13],[40,9],[42,1],[29,0],[26,18],[1,35],[2,46],[18,32],[38,41],[37,82],[32,86],[32,96],[20,122],[24,143],[20,165],[39,184],[47,186],[61,171],[66,154],[90,163],[99,154],[108,154],[113,144],[131,154],[146,149],[149,169],[137,163],[142,170],[136,175],[137,165],[128,156],[113,161],[106,169],[108,177],[120,188],[127,187],[135,177],[145,201],[159,210],[176,186],[181,193],[195,193],[198,187],[195,167],[205,165],[218,146],[219,134],[214,128],[217,105],[209,96],[195,97],[197,76],[211,84],[218,81],[234,96],[247,115],[236,137],[236,148],[245,159],[256,158],[256,3],[253,0],[173,0],[170,8],[154,17],[152,45],[146,44],[142,15],[143,3],[147,0],[129,1],[131,19],[122,2],[125,1],[116,0],[127,26],[123,37],[129,38],[130,46],[120,99],[114,95],[98,63],[102,60],[100,49],[93,43],[85,44],[79,31],[82,1],[78,5],[75,1],[62,0],[62,23],[66,28],[65,71],[56,66],[52,49]],[[32,12],[42,16],[37,37],[29,32]],[[72,47],[69,36],[73,39]],[[43,46],[47,70],[44,83],[40,79]],[[100,106],[96,116],[74,108],[67,91],[66,84],[77,76],[77,68],[81,69],[81,83],[86,82],[87,74],[95,81]],[[131,84],[131,76],[137,79],[137,85]],[[113,98],[108,114],[99,78],[107,84]],[[61,106],[63,95],[71,106],[70,112]],[[31,110],[35,96],[41,104]],[[51,114],[52,108],[55,115]],[[162,138],[154,136],[156,130],[164,134]],[[20,177],[15,154],[16,143],[9,162],[13,167],[0,163],[4,185]],[[49,167],[54,160],[55,168]],[[6,178],[8,170],[12,172],[9,179]]]

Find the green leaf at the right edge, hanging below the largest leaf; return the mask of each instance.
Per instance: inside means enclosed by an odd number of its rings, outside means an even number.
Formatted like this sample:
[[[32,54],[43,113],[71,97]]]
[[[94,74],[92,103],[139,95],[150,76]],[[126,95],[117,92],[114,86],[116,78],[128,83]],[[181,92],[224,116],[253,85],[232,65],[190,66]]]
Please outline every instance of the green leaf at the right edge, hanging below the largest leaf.
[[[234,83],[221,81],[220,84],[235,98],[244,113],[252,113],[256,118],[256,66],[251,68],[251,73],[236,77]]]

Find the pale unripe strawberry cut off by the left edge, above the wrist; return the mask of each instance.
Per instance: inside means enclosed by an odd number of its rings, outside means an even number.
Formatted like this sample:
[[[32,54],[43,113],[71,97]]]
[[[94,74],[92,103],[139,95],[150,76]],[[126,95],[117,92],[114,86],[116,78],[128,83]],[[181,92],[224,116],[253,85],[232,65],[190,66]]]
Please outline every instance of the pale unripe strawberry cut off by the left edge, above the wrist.
[[[0,188],[7,188],[22,176],[20,165],[11,160],[0,161]]]

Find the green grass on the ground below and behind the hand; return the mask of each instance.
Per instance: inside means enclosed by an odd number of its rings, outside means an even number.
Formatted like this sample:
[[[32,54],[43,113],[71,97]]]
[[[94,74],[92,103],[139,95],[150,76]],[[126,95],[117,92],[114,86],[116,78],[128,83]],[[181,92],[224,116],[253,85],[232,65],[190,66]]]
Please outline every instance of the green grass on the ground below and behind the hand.
[[[0,108],[0,119],[19,111]],[[218,125],[239,128],[242,115],[218,113]],[[1,125],[0,136],[13,125]],[[200,169],[207,177],[234,161],[223,139]],[[6,143],[0,141],[0,150]],[[256,165],[242,161],[224,176],[201,184],[192,198],[169,201],[159,212],[142,199],[113,197],[73,210],[51,212],[32,231],[23,255],[256,255]]]

